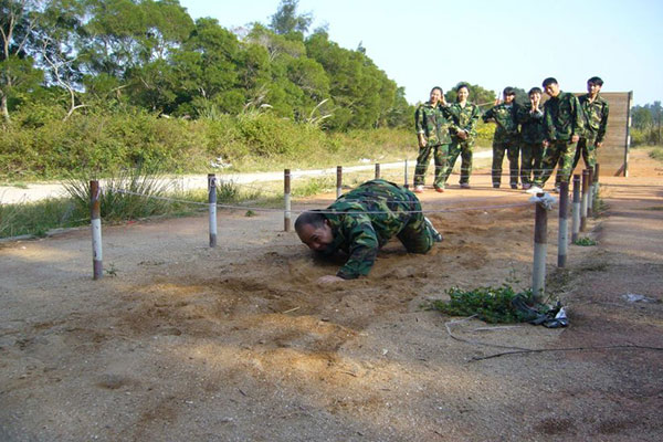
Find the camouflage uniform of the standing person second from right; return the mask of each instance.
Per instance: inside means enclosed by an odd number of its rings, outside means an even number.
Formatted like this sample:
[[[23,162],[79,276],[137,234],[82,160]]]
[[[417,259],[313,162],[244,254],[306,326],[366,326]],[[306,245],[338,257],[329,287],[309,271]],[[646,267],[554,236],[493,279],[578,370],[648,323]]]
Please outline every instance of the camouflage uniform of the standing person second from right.
[[[559,161],[557,176],[559,181],[568,182],[573,171],[573,155],[577,143],[573,135],[582,135],[582,109],[578,98],[568,92],[559,91],[544,104],[544,125],[548,147],[541,160],[543,172],[535,183],[543,187],[552,175]]]

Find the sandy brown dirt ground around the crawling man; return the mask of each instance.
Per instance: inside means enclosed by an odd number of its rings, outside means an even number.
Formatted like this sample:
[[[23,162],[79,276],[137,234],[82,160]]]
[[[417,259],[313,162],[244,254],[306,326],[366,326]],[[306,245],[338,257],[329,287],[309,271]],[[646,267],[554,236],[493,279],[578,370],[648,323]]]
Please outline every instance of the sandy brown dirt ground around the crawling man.
[[[4,243],[0,441],[661,441],[663,166],[630,165],[601,178],[598,245],[562,270],[549,214],[565,329],[422,307],[532,282],[529,196],[478,173],[423,194],[443,243],[391,242],[333,286],[315,281],[341,261],[315,261],[282,212],[221,211],[215,249],[204,215],[105,227],[99,281],[87,229]]]

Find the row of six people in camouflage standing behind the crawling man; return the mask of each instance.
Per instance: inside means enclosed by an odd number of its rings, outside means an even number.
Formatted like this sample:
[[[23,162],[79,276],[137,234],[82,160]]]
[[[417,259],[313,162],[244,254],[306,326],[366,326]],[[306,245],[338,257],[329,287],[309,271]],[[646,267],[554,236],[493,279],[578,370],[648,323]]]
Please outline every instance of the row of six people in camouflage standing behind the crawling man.
[[[529,105],[516,103],[516,91],[504,90],[504,101],[483,115],[478,106],[467,102],[470,87],[456,86],[456,101],[448,104],[441,87],[433,87],[430,101],[414,114],[419,156],[414,170],[414,191],[423,192],[431,154],[435,162],[433,188],[443,192],[449,176],[461,155],[461,188],[470,188],[472,150],[480,116],[496,124],[493,138],[493,187],[502,185],[504,155],[509,162],[509,185],[523,189],[543,188],[558,166],[556,189],[568,182],[580,157],[587,167],[596,165],[596,149],[601,147],[608,125],[608,103],[600,96],[603,81],[597,76],[587,81],[588,93],[576,97],[562,92],[557,80],[544,80],[548,99],[540,106],[541,90],[533,87]],[[520,166],[518,165],[520,161]]]

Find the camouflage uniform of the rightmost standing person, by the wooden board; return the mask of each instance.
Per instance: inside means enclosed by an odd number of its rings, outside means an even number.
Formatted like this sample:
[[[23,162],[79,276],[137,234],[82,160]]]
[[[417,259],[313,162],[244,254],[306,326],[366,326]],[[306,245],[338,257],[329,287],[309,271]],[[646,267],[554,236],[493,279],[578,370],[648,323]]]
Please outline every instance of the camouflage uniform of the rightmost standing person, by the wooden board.
[[[580,156],[585,161],[585,166],[593,168],[597,164],[597,143],[603,143],[606,129],[608,127],[608,114],[610,108],[608,102],[602,96],[597,95],[593,102],[590,101],[589,94],[578,98],[582,114],[585,115],[585,134],[578,141],[576,157],[573,158],[573,169],[580,161]]]

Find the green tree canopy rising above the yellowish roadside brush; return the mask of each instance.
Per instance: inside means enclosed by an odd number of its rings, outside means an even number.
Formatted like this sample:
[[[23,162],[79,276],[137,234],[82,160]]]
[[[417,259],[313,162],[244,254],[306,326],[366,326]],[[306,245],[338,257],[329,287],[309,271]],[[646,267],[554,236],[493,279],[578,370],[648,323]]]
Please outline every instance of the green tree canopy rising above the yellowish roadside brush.
[[[328,128],[409,125],[402,88],[366,55],[307,34],[284,0],[270,27],[193,21],[178,0],[0,0],[0,112],[136,107],[198,118],[270,109]]]

